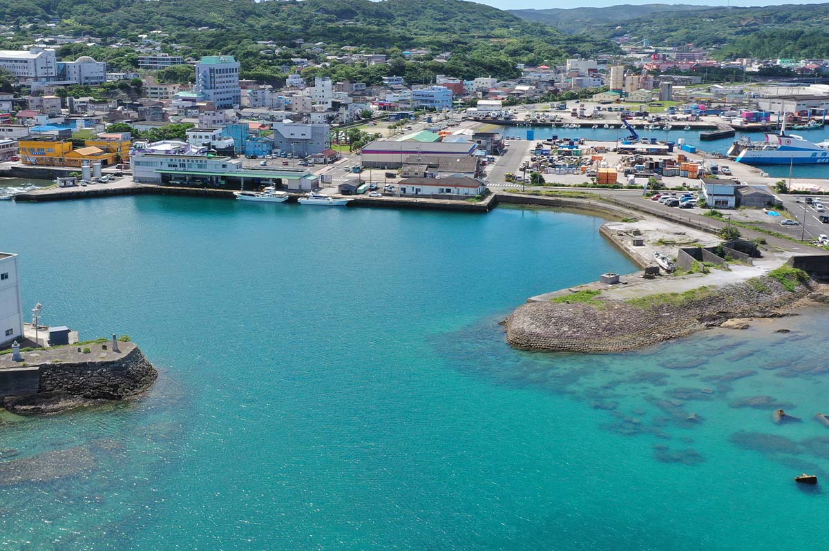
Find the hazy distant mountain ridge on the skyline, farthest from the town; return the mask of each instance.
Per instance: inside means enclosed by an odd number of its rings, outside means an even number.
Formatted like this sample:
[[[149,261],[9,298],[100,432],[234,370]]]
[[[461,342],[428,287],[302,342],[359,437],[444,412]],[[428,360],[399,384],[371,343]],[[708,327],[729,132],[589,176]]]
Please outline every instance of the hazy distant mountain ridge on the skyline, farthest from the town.
[[[608,7],[555,7],[550,9],[507,10],[516,17],[526,21],[545,23],[560,31],[577,34],[592,30],[600,23],[614,23],[648,17],[655,13],[690,12],[712,9],[713,6],[693,6],[691,4],[619,4]]]

